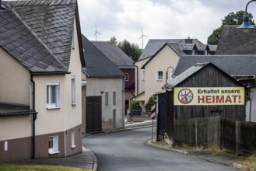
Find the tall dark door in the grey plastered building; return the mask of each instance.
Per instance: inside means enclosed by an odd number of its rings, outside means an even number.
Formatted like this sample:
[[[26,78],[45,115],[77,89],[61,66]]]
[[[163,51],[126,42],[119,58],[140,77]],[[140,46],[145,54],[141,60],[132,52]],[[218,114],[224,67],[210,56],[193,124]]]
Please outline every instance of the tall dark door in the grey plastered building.
[[[102,131],[101,96],[86,96],[86,132]]]

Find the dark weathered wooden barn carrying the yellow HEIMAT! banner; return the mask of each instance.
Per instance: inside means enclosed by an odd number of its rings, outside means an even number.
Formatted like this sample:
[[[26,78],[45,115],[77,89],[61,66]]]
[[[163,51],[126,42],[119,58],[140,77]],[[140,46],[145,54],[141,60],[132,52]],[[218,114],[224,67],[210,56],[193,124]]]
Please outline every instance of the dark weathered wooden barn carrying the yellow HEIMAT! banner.
[[[165,89],[166,131],[171,141],[178,140],[177,120],[210,117],[240,121],[246,119],[247,88],[212,63],[191,66],[167,83]]]

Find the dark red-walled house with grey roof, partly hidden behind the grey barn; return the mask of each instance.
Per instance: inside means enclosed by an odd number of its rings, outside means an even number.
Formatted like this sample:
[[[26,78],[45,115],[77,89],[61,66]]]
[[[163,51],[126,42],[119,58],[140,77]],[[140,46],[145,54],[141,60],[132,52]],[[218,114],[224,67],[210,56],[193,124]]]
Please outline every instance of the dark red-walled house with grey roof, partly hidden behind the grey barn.
[[[135,96],[135,65],[132,58],[128,57],[119,47],[109,41],[92,41],[93,44],[110,59],[124,74],[124,114],[130,106],[131,99]]]

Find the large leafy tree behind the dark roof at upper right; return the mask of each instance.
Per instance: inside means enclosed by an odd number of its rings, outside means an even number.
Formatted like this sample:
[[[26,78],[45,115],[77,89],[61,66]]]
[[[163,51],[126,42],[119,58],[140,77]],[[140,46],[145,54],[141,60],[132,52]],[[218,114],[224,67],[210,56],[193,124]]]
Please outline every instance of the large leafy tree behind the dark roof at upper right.
[[[249,16],[249,23],[254,25],[253,16],[251,13],[247,13]],[[212,34],[208,37],[207,44],[218,44],[220,34],[223,31],[223,26],[225,25],[241,25],[243,23],[244,11],[240,10],[236,13],[230,12],[224,19],[221,19],[222,24],[216,30],[213,30]]]

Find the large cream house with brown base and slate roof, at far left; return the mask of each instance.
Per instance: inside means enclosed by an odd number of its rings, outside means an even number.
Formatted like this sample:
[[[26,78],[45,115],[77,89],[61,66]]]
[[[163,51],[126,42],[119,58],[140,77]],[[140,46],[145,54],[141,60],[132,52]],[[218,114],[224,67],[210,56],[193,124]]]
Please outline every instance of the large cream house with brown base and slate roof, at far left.
[[[2,2],[0,161],[82,152],[77,2]]]

